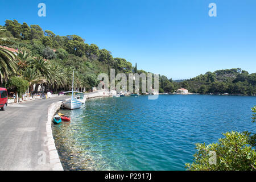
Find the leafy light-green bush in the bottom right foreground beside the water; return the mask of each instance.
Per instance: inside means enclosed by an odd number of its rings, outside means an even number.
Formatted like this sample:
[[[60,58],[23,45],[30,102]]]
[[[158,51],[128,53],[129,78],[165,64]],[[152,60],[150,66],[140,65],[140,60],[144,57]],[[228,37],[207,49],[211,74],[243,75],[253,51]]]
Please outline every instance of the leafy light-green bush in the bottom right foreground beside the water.
[[[197,152],[192,164],[185,164],[187,170],[218,171],[218,170],[255,170],[256,152],[250,146],[250,136],[247,133],[236,131],[227,132],[224,138],[218,139],[218,143],[197,143]],[[216,164],[211,163],[214,159],[211,151],[216,152]]]

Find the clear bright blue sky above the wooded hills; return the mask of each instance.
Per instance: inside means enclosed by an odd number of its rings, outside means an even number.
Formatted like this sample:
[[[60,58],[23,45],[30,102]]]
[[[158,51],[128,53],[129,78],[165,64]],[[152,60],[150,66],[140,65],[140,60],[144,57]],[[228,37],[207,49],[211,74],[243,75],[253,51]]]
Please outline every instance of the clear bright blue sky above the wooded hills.
[[[38,4],[46,3],[46,17]],[[209,3],[217,17],[210,17]],[[255,0],[0,1],[6,19],[79,35],[138,69],[174,80],[217,69],[256,72]]]

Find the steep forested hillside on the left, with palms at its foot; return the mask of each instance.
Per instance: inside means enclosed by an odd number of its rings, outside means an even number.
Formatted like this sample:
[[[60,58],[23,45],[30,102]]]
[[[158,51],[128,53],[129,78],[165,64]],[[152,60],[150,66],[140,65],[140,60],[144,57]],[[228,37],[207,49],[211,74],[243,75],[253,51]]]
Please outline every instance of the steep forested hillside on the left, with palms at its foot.
[[[30,84],[48,85],[52,90],[68,89],[71,87],[69,72],[76,71],[76,88],[89,90],[97,85],[99,73],[109,73],[110,68],[115,73],[146,73],[137,70],[137,66],[123,58],[113,57],[106,49],[99,49],[96,44],[87,44],[78,35],[59,36],[50,30],[43,31],[39,25],[20,24],[16,20],[6,20],[0,26],[0,47],[18,49],[19,54],[14,61],[15,69],[3,69],[12,62],[8,56],[5,65],[2,65],[1,84],[7,84],[9,77],[23,77]],[[9,38],[8,41],[3,38]],[[36,60],[38,59],[38,60]],[[10,65],[9,65],[10,66]],[[42,69],[45,66],[46,69]],[[18,71],[18,72],[17,72]],[[30,73],[40,75],[33,79],[26,77]],[[3,79],[5,76],[5,79]],[[41,80],[41,82],[40,82]],[[44,82],[42,82],[44,80]]]

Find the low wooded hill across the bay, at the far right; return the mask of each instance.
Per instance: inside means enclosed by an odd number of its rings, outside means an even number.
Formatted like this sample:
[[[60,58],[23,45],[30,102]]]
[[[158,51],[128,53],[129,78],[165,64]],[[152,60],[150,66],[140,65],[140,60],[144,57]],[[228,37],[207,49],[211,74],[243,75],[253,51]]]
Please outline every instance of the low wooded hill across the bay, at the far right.
[[[181,82],[181,86],[193,93],[229,93],[256,94],[256,73],[237,69],[224,69],[207,72],[190,80]]]

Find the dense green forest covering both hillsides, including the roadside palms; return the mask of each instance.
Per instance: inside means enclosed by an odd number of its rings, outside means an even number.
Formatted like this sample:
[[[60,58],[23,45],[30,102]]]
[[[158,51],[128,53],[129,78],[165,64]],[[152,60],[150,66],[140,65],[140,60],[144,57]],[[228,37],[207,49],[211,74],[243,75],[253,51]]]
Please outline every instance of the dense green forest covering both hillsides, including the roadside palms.
[[[6,20],[0,26],[0,84],[8,88],[15,85],[44,84],[54,92],[71,89],[72,69],[75,69],[75,87],[89,90],[98,84],[97,75],[108,73],[146,73],[137,70],[129,61],[113,57],[106,49],[96,44],[87,44],[78,35],[59,36],[38,25],[20,24]],[[18,55],[3,46],[18,49]],[[237,69],[207,72],[189,80],[172,81],[159,75],[159,93],[172,93],[186,88],[193,93],[256,94],[256,73]]]

